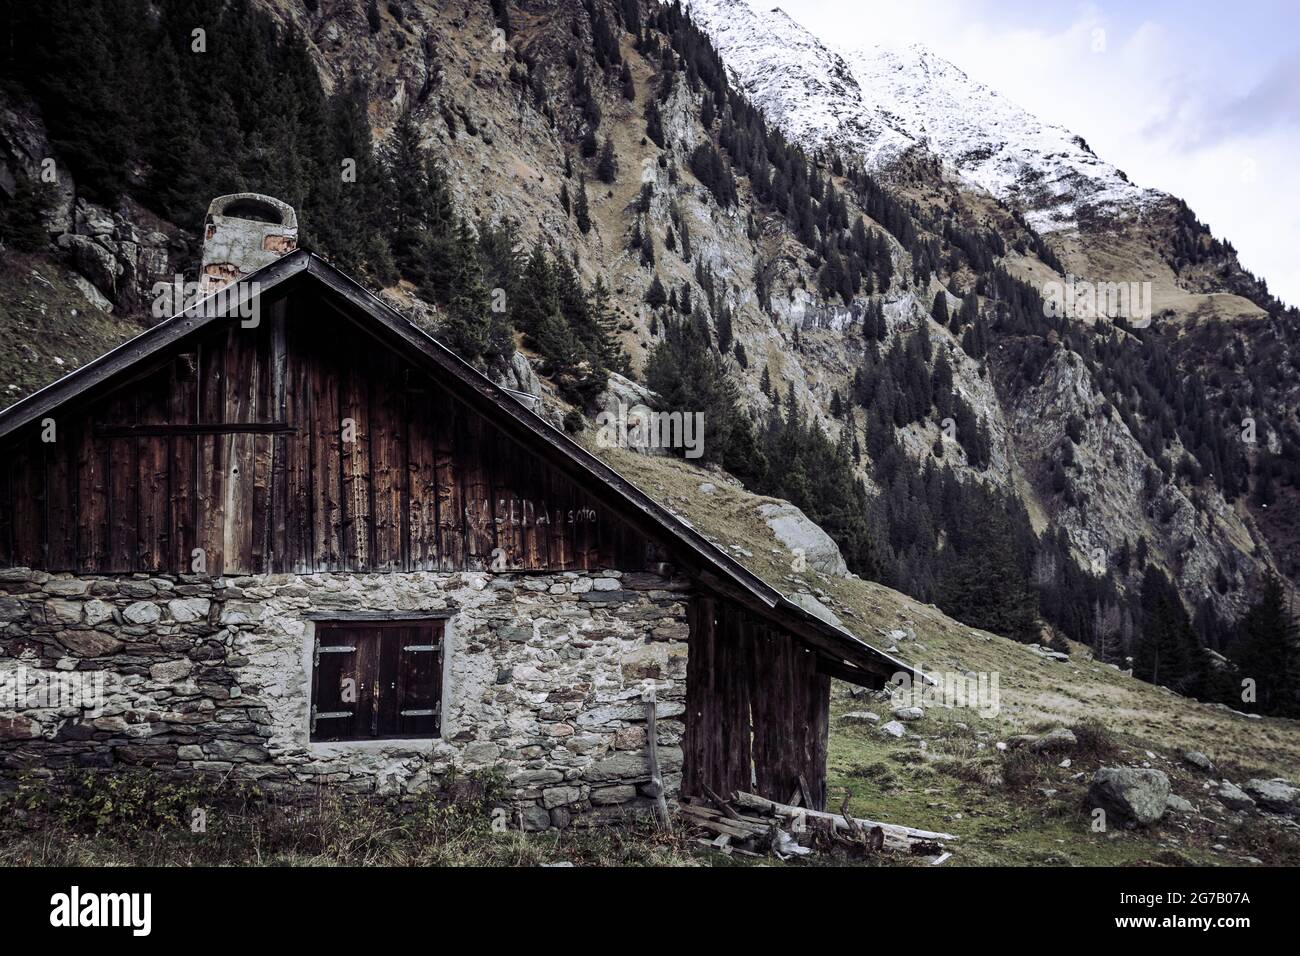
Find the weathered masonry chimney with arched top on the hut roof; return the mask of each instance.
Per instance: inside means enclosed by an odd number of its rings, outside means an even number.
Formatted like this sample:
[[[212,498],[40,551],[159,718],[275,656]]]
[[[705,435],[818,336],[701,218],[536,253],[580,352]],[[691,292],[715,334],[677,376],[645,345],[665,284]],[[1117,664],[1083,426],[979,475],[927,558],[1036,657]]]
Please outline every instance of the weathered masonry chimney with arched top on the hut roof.
[[[203,222],[202,294],[238,282],[298,248],[298,215],[260,193],[217,196]]]

